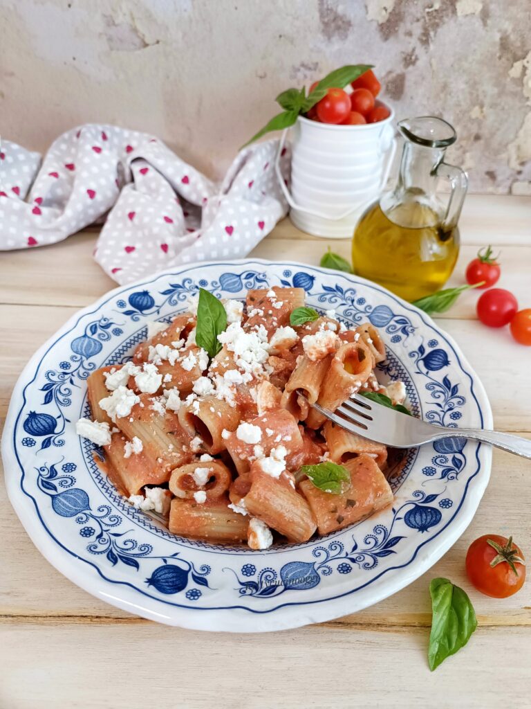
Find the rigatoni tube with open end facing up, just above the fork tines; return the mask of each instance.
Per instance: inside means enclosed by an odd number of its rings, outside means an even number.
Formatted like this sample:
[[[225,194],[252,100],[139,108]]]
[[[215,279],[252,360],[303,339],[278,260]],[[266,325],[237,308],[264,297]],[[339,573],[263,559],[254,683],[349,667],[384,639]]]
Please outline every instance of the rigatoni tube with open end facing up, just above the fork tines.
[[[372,373],[372,354],[364,342],[346,342],[333,355],[317,403],[336,411],[343,401],[361,388]],[[326,417],[312,409],[307,418],[310,428],[319,428]]]

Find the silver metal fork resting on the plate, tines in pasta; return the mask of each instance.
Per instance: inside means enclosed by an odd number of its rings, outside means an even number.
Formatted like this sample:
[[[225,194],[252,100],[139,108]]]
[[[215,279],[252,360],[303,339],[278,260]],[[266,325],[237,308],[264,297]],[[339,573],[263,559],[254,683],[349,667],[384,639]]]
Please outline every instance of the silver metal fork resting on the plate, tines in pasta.
[[[329,411],[317,403],[311,406],[345,430],[394,448],[415,448],[442,438],[462,436],[531,459],[531,441],[520,436],[486,429],[435,426],[359,394],[348,398],[336,411]]]

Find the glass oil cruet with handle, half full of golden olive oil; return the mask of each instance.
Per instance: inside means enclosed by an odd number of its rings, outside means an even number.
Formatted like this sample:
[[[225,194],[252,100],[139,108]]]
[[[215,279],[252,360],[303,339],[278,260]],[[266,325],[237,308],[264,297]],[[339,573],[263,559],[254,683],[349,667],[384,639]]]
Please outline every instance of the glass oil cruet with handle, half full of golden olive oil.
[[[444,162],[457,135],[435,116],[398,124],[404,138],[399,178],[360,218],[353,237],[354,272],[407,301],[444,286],[459,254],[457,220],[468,177]],[[450,195],[438,194],[441,180]]]

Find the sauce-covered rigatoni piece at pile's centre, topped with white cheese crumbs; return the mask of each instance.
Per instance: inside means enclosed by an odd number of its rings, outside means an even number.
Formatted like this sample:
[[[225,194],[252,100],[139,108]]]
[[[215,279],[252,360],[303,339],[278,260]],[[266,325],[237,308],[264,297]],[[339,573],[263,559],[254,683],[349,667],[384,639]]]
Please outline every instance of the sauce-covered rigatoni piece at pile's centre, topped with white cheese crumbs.
[[[267,411],[248,423],[258,426],[261,430],[260,440],[256,443],[246,443],[239,439],[236,430],[224,440],[239,474],[249,470],[251,462],[258,457],[258,452],[268,456],[273,448],[283,445],[290,454],[302,447],[302,436],[297,421],[285,409]]]

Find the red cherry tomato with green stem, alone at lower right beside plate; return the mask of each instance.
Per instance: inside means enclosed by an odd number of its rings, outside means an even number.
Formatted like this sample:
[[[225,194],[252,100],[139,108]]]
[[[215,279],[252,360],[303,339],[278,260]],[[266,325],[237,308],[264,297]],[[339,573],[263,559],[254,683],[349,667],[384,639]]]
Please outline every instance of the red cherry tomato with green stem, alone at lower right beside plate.
[[[525,581],[525,559],[513,537],[486,534],[469,546],[467,576],[478,591],[493,598],[507,598],[520,591]]]

